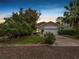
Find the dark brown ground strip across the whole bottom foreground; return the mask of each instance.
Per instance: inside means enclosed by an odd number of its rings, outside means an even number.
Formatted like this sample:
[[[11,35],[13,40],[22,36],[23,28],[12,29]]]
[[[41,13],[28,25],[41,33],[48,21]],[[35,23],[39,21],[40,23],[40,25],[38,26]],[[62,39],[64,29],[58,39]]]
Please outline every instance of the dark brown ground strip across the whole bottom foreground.
[[[79,59],[76,46],[0,47],[0,59]]]

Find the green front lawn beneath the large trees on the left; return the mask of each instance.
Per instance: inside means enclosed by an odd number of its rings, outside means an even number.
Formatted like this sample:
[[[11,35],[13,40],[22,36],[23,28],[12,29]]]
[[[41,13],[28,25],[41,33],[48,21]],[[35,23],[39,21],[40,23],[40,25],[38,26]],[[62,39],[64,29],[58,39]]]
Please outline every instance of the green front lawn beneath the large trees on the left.
[[[43,43],[43,38],[40,36],[25,36],[17,39],[12,39],[10,41],[6,41],[8,44],[41,44]]]

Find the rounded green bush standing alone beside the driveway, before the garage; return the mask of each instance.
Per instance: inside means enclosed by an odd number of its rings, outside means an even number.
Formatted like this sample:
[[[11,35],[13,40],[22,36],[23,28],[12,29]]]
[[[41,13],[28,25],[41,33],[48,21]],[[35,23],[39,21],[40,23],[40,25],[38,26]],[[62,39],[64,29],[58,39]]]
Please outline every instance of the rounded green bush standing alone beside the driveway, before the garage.
[[[46,33],[44,35],[44,43],[45,44],[53,44],[55,42],[56,38],[53,35],[53,33]]]

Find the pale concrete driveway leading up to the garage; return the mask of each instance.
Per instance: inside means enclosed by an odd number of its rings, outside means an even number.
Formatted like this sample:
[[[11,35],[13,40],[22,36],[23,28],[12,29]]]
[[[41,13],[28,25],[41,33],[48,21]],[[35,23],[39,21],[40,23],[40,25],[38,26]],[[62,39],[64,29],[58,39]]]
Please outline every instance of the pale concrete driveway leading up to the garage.
[[[54,46],[79,46],[79,40],[57,35]]]

